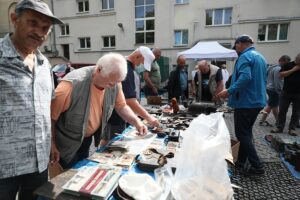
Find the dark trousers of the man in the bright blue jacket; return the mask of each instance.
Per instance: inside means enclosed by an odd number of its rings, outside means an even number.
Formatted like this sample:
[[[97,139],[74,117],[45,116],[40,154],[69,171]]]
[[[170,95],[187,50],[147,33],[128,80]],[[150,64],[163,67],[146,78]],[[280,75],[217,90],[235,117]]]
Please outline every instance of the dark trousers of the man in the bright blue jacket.
[[[240,149],[237,162],[244,165],[248,159],[254,168],[262,168],[256,149],[253,144],[253,125],[262,108],[243,108],[234,110],[235,135],[240,141]]]

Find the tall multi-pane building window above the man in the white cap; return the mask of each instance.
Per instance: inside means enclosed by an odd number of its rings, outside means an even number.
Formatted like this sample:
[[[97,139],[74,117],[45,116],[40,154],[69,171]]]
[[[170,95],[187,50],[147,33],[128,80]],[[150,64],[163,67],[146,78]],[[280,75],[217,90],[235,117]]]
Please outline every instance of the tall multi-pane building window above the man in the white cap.
[[[135,42],[154,43],[154,0],[135,0]]]

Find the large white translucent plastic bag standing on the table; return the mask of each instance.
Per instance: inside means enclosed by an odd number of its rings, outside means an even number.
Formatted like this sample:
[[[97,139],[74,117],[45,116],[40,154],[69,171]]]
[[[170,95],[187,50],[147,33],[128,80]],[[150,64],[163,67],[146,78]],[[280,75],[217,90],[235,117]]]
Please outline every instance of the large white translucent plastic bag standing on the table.
[[[176,200],[233,199],[225,161],[230,135],[222,115],[202,114],[186,130],[171,189]]]

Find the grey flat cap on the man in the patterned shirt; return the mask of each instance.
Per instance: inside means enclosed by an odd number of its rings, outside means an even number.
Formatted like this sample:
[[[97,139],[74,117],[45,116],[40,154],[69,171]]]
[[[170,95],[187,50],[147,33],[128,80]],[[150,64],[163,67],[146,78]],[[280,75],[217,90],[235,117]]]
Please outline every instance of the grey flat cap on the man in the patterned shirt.
[[[53,24],[64,24],[63,21],[53,15],[48,4],[42,0],[21,0],[19,3],[17,3],[15,12],[20,13],[24,9],[34,10],[50,17]]]

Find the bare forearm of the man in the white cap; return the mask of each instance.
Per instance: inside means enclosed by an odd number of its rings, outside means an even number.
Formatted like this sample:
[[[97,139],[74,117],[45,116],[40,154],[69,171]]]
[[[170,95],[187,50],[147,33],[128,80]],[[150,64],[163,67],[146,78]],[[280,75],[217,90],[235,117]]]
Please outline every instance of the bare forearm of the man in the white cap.
[[[138,116],[142,117],[143,119],[147,120],[147,122],[154,127],[159,126],[158,120],[150,115],[135,98],[126,99],[127,105],[136,113]]]

